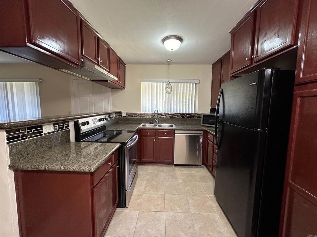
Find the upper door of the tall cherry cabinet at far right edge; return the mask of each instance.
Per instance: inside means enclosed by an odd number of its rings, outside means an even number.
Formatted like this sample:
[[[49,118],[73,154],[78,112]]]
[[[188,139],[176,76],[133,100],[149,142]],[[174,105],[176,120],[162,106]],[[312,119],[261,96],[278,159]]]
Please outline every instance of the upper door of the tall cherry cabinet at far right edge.
[[[295,83],[317,81],[317,2],[303,0]]]

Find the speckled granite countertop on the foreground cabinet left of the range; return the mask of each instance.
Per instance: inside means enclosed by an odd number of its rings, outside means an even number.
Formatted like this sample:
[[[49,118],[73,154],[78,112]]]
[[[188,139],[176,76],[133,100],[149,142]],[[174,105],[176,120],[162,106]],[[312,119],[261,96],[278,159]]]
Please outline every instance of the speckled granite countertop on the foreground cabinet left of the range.
[[[94,172],[119,143],[69,142],[14,161],[10,169]]]

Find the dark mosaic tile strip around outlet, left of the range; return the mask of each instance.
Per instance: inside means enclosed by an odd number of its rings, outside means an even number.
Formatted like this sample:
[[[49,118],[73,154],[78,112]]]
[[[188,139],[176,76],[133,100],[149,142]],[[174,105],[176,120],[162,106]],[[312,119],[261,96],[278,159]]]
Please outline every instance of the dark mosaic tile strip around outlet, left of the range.
[[[68,121],[53,123],[53,128],[54,128],[54,131],[45,132],[45,133],[43,133],[42,124],[29,126],[29,127],[23,127],[23,128],[8,129],[5,131],[7,144],[20,142],[20,141],[35,138],[35,137],[45,136],[55,132],[68,130],[69,123]]]

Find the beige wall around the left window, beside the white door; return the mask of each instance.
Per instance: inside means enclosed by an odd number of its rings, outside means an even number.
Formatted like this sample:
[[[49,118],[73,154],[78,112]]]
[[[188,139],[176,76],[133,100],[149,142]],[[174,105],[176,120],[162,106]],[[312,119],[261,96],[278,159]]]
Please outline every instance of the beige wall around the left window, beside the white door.
[[[69,75],[36,63],[0,64],[0,78],[42,78],[39,83],[42,116],[71,112]]]

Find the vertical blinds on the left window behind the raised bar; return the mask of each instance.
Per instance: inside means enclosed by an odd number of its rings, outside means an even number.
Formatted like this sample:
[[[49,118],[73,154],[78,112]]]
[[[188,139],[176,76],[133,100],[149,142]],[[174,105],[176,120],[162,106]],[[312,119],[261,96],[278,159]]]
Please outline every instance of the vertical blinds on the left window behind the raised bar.
[[[0,82],[0,119],[40,117],[38,82]]]

